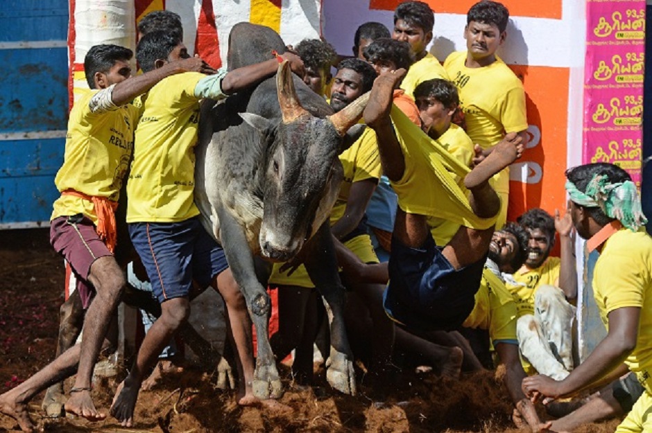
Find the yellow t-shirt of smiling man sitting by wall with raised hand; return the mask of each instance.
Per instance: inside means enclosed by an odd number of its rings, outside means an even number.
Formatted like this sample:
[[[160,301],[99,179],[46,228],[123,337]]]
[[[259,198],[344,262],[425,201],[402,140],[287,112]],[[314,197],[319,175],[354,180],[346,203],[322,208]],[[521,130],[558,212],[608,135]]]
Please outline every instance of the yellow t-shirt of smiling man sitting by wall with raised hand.
[[[511,292],[518,310],[518,317],[534,314],[534,296],[542,285],[559,287],[559,271],[561,260],[558,257],[549,257],[540,267],[529,269],[523,265],[514,272],[513,277],[522,285],[506,284]]]

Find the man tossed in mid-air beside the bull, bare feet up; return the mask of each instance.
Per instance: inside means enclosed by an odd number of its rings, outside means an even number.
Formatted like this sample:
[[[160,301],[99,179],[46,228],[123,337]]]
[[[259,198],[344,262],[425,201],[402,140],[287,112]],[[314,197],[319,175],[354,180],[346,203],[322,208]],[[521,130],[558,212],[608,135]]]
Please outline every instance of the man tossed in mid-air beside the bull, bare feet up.
[[[409,329],[456,329],[474,308],[500,208],[488,181],[520,156],[521,139],[509,134],[469,170],[393,107],[393,89],[404,73],[400,69],[379,76],[363,114],[376,132],[381,165],[399,204],[384,306]],[[454,175],[464,177],[468,197]],[[424,190],[424,184],[429,188]],[[450,219],[460,228],[446,245],[438,246],[429,217]],[[517,407],[533,427],[538,425],[528,400],[522,398]]]

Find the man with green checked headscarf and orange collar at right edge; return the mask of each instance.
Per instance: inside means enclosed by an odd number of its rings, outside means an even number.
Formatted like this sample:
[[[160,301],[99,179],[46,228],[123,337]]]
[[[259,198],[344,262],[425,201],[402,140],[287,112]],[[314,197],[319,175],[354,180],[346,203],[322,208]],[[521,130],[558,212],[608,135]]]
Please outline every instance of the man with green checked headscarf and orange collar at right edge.
[[[535,375],[523,380],[532,398],[565,398],[597,388],[629,369],[645,391],[616,432],[652,431],[652,238],[635,184],[606,163],[567,170],[566,191],[574,227],[600,256],[593,272],[597,306],[607,336],[564,380]],[[617,269],[615,272],[614,269]]]

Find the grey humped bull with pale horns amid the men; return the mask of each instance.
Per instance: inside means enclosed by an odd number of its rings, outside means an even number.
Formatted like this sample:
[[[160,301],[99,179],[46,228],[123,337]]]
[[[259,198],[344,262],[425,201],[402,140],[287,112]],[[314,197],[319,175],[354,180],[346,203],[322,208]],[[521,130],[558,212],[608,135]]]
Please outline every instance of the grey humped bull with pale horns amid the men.
[[[241,23],[229,37],[229,69],[273,58],[286,47],[264,26]],[[345,292],[328,224],[343,169],[338,154],[362,132],[352,127],[368,95],[337,114],[289,65],[248,92],[203,105],[196,148],[196,204],[224,247],[258,335],[254,394],[276,398],[282,385],[268,341],[269,262],[304,263],[329,310],[329,384],[355,393],[343,321]],[[349,128],[352,127],[352,131]],[[264,258],[265,260],[260,260]],[[267,265],[265,265],[267,263]]]

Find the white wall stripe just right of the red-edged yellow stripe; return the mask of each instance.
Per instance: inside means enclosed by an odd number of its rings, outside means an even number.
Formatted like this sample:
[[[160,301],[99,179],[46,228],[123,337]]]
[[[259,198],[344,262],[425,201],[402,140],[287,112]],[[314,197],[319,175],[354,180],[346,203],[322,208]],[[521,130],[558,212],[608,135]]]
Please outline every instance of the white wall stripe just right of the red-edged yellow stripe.
[[[320,33],[320,0],[282,0],[280,35],[286,44],[315,39]]]

